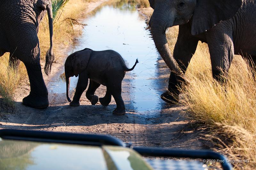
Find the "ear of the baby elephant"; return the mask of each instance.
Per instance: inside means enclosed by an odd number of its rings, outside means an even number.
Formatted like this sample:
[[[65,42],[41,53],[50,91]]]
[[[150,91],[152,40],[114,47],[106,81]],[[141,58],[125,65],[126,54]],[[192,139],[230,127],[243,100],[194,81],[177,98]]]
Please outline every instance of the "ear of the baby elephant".
[[[86,69],[90,60],[91,53],[91,49],[85,49],[76,52],[73,63],[73,71],[76,77]]]

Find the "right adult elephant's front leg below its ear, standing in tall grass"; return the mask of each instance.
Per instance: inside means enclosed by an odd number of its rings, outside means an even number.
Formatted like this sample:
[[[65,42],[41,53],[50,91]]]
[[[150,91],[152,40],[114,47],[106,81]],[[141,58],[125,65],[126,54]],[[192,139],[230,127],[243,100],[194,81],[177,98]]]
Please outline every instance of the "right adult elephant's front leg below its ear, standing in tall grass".
[[[228,76],[228,70],[234,57],[232,25],[222,22],[207,31],[206,39],[209,46],[212,63],[212,76],[223,83]]]

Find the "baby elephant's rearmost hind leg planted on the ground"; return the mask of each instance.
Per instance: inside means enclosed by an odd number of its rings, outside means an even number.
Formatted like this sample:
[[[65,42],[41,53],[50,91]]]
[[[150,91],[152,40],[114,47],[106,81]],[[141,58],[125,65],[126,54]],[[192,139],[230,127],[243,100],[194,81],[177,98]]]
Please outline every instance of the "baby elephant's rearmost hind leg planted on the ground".
[[[123,77],[121,77],[120,75],[112,75],[112,76],[109,76],[108,78],[107,87],[109,88],[110,93],[112,94],[112,96],[116,101],[116,109],[113,111],[113,114],[116,114],[116,115],[125,114],[124,100],[121,96],[122,80],[123,80]]]

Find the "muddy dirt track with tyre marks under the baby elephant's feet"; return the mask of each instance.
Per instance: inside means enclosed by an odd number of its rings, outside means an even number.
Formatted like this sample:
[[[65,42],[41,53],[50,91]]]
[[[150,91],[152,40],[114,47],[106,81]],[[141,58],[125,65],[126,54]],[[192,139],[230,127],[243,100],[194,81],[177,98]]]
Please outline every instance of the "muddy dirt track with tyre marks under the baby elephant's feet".
[[[97,6],[100,4],[100,1]],[[61,65],[60,63],[57,65]],[[167,85],[168,70],[164,67],[163,60],[157,61],[158,76],[155,78],[161,94]],[[58,68],[55,70],[55,73]],[[54,72],[53,72],[54,73]],[[100,103],[91,106],[82,95],[80,107],[70,107],[66,94],[49,94],[50,106],[47,109],[33,109],[21,104],[22,97],[29,92],[20,93],[17,100],[18,113],[6,115],[0,122],[0,128],[33,129],[60,132],[109,134],[124,142],[133,145],[144,145],[165,148],[201,149],[205,146],[199,139],[198,132],[194,131],[189,121],[180,115],[182,107],[170,107],[164,102],[159,103],[161,109],[147,112],[137,112],[133,106],[133,89],[130,80],[132,72],[127,72],[123,80],[122,96],[127,113],[122,116],[113,115],[116,105],[112,101],[108,107]],[[52,78],[54,74],[52,74]],[[51,77],[46,80],[51,81]],[[99,97],[105,94],[106,88],[100,86],[96,91]]]

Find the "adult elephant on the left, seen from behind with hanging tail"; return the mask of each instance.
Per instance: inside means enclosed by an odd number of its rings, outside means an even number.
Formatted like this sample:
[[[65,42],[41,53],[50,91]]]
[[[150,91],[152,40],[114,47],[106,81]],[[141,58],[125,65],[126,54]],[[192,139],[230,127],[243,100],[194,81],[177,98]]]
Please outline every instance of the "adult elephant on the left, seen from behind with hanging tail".
[[[9,64],[18,66],[22,61],[27,69],[30,94],[22,102],[34,108],[49,105],[48,91],[40,65],[38,25],[46,11],[49,18],[50,49],[46,54],[44,71],[51,72],[53,55],[53,26],[51,0],[1,0],[0,3],[0,56],[10,52]]]

